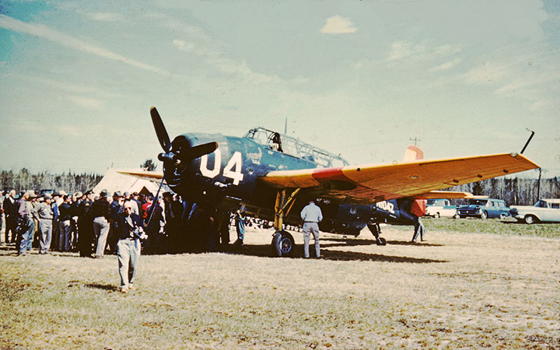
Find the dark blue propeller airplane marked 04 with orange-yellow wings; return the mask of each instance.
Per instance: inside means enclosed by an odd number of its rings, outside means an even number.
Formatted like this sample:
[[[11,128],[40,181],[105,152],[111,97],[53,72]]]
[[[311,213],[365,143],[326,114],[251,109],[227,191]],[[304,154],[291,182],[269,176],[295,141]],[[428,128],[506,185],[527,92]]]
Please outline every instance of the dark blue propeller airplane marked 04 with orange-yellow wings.
[[[339,155],[263,127],[244,137],[186,133],[170,141],[157,109],[150,113],[163,148],[163,172],[125,174],[161,179],[210,213],[243,205],[248,216],[274,221],[271,245],[278,256],[293,255],[294,239],[284,225],[299,225],[300,210],[311,199],[323,211],[321,232],[357,236],[367,226],[376,243],[385,245],[379,223],[414,225],[425,209],[421,200],[472,196],[442,188],[538,168],[519,153],[423,160],[414,146],[402,163],[349,165]]]

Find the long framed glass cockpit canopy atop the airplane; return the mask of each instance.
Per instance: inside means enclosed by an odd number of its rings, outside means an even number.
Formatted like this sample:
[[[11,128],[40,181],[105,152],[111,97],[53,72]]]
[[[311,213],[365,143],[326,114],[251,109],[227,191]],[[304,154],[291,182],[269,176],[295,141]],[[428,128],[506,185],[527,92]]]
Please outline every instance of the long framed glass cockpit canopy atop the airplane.
[[[249,130],[244,137],[252,139],[256,143],[270,148],[272,151],[314,162],[319,167],[343,167],[348,165],[348,162],[339,155],[328,153],[321,148],[311,146],[293,137],[267,130],[264,127],[255,127]]]

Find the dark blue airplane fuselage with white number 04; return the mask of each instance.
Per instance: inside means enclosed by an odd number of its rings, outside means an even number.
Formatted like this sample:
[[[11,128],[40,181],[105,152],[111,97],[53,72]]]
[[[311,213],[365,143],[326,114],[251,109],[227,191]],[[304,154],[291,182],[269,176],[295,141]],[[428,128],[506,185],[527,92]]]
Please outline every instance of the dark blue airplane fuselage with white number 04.
[[[275,170],[318,167],[315,162],[274,151],[253,139],[222,134],[183,134],[174,139],[172,151],[180,154],[185,145],[197,146],[212,141],[218,143],[214,153],[173,169],[164,169],[164,174],[168,185],[183,199],[218,211],[233,211],[244,204],[249,216],[274,221],[277,189],[258,178]],[[315,198],[312,191],[300,191],[284,223],[299,224],[300,211],[311,198]],[[414,223],[409,212],[399,209],[409,204],[399,200],[367,205],[319,200],[318,205],[323,211],[320,224],[323,232],[358,235],[368,223]]]

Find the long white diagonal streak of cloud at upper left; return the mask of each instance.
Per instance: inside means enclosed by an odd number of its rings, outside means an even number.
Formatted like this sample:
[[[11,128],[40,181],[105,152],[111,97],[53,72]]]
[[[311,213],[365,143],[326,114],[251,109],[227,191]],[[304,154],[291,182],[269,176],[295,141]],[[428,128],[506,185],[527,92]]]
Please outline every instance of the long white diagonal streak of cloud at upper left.
[[[134,66],[139,69],[144,69],[146,71],[153,71],[154,73],[169,75],[169,73],[167,73],[167,71],[164,71],[163,69],[160,69],[155,66],[151,66],[150,64],[145,64],[142,62],[135,61],[134,59],[130,59],[123,55],[119,55],[116,52],[106,50],[97,45],[86,43],[78,38],[74,38],[73,36],[61,33],[60,31],[57,31],[55,29],[45,27],[44,25],[30,24],[27,22],[16,20],[15,18],[11,18],[6,15],[0,15],[0,28],[10,29],[13,31],[17,31],[19,33],[25,33],[32,36],[38,36],[40,38],[45,38],[47,40],[54,41],[55,43],[59,43],[61,45],[67,46],[69,48],[73,48],[75,50],[89,52],[99,57],[104,57],[106,59],[112,59],[114,61],[123,62],[130,66]]]

